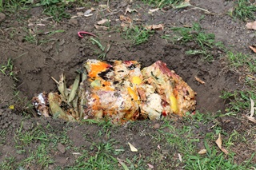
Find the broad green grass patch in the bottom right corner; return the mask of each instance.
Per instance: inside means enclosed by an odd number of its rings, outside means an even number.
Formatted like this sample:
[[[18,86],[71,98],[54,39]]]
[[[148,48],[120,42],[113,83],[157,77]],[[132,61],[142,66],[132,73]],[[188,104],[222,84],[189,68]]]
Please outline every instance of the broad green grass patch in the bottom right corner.
[[[249,160],[238,165],[234,163],[234,152],[230,150],[229,155],[225,155],[214,144],[214,141],[218,138],[218,133],[221,133],[222,145],[229,149],[238,141],[246,142],[242,134],[236,131],[228,134],[218,125],[214,126],[212,132],[196,134],[193,127],[197,127],[198,123],[201,122],[194,120],[193,125],[183,125],[183,127],[178,128],[166,121],[162,128],[158,130],[159,133],[154,136],[155,142],[161,144],[162,149],[169,151],[166,154],[166,161],[169,157],[171,160],[168,161],[170,167],[182,167],[184,169],[246,169],[252,166],[253,163],[250,160],[255,153]],[[206,148],[206,154],[199,155],[198,151],[202,148]],[[182,156],[182,162],[178,159],[178,154]],[[157,164],[159,169],[166,169],[166,163],[162,162],[161,156],[162,152],[157,150],[152,153],[149,161],[152,164]]]

